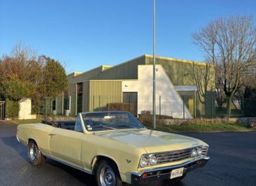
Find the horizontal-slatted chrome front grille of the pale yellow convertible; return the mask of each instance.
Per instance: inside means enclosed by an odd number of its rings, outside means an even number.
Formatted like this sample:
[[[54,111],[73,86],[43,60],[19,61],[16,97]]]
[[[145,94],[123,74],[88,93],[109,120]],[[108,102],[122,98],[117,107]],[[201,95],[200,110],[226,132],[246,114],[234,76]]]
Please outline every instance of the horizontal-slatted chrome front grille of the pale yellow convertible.
[[[188,159],[191,157],[193,148],[176,150],[176,151],[168,151],[164,153],[157,153],[156,157],[158,158],[158,164],[161,163],[170,163],[175,161],[182,161],[183,159]],[[207,155],[207,146],[202,146],[203,153],[202,155]]]

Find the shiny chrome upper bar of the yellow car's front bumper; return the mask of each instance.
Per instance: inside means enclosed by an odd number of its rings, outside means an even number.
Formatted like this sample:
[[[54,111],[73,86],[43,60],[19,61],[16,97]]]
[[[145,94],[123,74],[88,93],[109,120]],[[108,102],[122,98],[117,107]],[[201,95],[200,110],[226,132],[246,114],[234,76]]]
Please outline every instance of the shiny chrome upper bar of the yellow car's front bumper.
[[[187,161],[186,163],[182,163],[182,164],[178,164],[178,165],[172,165],[172,166],[168,166],[168,167],[159,167],[159,168],[153,168],[153,169],[145,169],[143,171],[140,171],[140,172],[131,172],[132,174],[134,175],[137,175],[137,176],[141,176],[143,173],[148,173],[148,172],[152,172],[152,171],[162,171],[164,169],[175,169],[177,167],[184,167],[190,163],[193,163],[195,161],[198,161],[198,160],[209,160],[211,157],[209,156],[203,156],[203,157],[199,157],[199,158],[196,158],[196,159],[192,159],[190,161]]]

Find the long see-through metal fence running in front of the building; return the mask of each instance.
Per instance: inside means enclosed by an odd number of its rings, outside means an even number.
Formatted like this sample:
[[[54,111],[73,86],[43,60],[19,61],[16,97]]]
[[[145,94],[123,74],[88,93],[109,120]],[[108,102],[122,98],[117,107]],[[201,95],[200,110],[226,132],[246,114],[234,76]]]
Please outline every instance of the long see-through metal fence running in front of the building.
[[[47,102],[47,110],[41,106],[39,114],[63,114],[75,115],[80,106],[82,112],[92,111],[129,111],[134,116],[140,114],[152,114],[152,96],[138,96],[134,92],[126,92],[122,96],[90,96],[88,98],[75,99],[71,96],[67,105],[57,103],[56,100]],[[172,116],[173,118],[239,118],[256,117],[255,98],[234,98],[231,104],[231,113],[228,114],[227,102],[223,99],[217,101],[214,94],[205,96],[199,100],[198,95],[182,95],[180,97],[156,96],[156,114]],[[82,102],[82,103],[81,103]],[[69,106],[68,104],[72,106]],[[60,108],[62,107],[62,108]],[[69,108],[66,112],[65,108]],[[76,112],[74,110],[76,109]]]

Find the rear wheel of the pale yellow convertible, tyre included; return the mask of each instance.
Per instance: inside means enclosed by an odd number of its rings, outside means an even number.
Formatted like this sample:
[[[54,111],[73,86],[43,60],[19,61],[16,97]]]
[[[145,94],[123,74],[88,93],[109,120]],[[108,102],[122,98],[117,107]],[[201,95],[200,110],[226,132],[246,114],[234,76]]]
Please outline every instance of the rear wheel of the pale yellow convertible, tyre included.
[[[27,146],[27,154],[29,156],[29,162],[32,165],[39,165],[45,161],[45,157],[37,147],[37,143],[33,140],[29,141]]]

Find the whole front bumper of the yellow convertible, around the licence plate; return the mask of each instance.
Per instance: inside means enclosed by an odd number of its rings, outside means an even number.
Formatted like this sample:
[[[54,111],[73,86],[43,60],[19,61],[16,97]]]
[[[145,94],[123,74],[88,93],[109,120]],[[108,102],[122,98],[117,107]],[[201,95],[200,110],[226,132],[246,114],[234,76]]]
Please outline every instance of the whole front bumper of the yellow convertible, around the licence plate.
[[[142,183],[149,183],[151,181],[170,179],[171,171],[173,169],[178,169],[181,167],[184,167],[183,175],[185,175],[186,173],[188,173],[189,171],[192,171],[193,169],[203,167],[209,159],[210,159],[209,156],[204,156],[204,157],[199,157],[197,159],[192,159],[180,165],[159,167],[156,169],[146,169],[139,173],[132,172],[132,185],[140,185]]]

